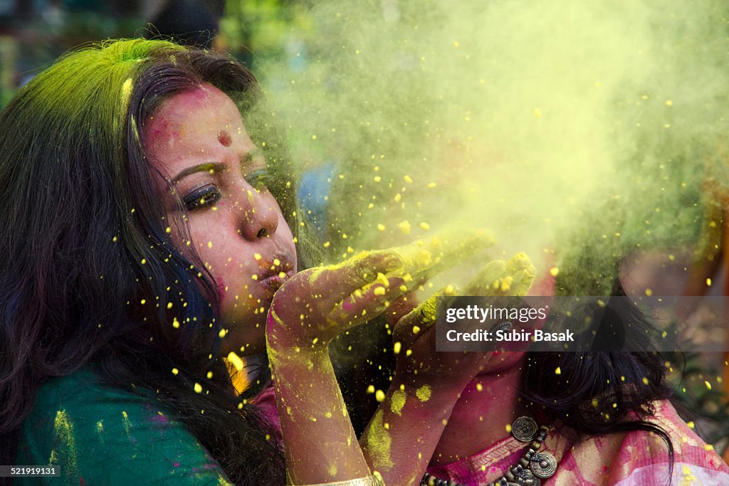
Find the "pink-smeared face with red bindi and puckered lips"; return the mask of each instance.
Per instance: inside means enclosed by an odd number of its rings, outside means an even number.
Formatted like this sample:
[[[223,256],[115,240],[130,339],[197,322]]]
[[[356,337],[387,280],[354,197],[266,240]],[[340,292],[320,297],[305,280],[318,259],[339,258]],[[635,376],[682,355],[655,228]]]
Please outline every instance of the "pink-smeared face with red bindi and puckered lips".
[[[296,272],[296,251],[241,114],[225,93],[205,84],[165,100],[146,130],[149,162],[187,208],[190,241],[179,228],[171,228],[171,237],[183,254],[193,247],[214,277],[227,350],[265,350],[266,313],[273,293]],[[176,196],[163,181],[157,187],[174,220]]]

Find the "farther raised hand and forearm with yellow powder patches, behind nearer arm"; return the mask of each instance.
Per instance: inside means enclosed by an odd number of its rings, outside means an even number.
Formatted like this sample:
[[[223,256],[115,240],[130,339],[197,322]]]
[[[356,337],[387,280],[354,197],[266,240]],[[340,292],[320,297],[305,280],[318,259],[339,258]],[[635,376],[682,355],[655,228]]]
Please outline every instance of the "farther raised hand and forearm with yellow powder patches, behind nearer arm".
[[[529,258],[518,254],[486,264],[461,294],[526,295],[535,274]],[[386,484],[420,483],[461,391],[488,367],[491,353],[435,350],[437,299],[457,292],[452,286],[439,291],[394,328],[395,376],[360,439],[367,464]]]

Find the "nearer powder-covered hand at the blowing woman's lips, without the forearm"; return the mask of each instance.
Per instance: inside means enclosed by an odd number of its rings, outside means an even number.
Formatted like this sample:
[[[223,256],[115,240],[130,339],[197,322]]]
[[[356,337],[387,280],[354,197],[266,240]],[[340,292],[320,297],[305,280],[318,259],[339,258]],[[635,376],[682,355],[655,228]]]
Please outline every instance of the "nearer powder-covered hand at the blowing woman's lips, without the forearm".
[[[269,346],[325,348],[337,334],[382,313],[430,275],[493,243],[489,232],[460,232],[304,270],[273,297]]]

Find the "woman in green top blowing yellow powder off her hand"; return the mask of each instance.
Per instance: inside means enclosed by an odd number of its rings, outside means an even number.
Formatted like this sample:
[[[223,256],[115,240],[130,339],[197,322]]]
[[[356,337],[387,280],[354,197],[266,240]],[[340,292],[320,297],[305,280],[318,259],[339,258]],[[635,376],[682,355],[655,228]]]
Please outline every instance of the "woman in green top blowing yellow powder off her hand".
[[[170,42],[61,58],[1,112],[0,146],[1,464],[57,465],[74,485],[381,480],[327,342],[488,236],[297,274],[313,246],[254,77]],[[228,370],[267,352],[283,442],[268,370],[243,396]],[[459,380],[436,373],[454,358],[421,372],[448,393],[418,418],[440,423],[482,360],[462,359]]]

